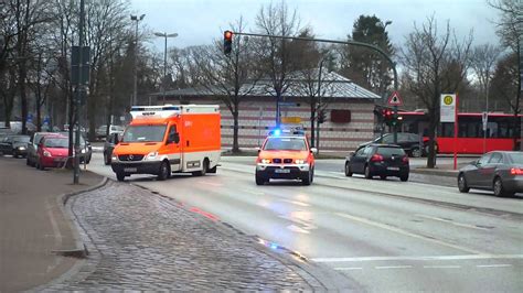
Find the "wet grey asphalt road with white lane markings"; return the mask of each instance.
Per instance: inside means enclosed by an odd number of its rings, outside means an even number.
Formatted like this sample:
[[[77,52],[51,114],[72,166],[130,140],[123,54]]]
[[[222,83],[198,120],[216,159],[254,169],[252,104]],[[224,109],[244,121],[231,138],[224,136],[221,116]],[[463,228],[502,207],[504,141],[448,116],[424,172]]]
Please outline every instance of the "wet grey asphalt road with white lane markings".
[[[88,169],[115,178],[99,153]],[[523,199],[327,170],[316,175],[311,186],[256,186],[252,160],[223,158],[215,175],[128,181],[297,251],[367,291],[523,292]]]

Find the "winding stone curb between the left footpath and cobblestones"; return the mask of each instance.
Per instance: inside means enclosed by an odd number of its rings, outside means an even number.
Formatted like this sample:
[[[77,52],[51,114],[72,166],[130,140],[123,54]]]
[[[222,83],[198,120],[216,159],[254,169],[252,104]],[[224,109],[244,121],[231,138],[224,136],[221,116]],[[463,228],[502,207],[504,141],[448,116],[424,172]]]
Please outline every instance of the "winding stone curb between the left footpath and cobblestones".
[[[94,189],[98,189],[98,188],[103,187],[106,184],[107,184],[107,177],[103,177],[102,182],[98,183],[95,186],[92,186],[92,187],[88,187],[88,188],[85,188],[85,189],[82,189],[82,191],[73,192],[73,193],[58,195],[56,197],[56,200],[58,202],[60,209],[62,210],[62,213],[64,213],[64,216],[66,217],[66,219],[68,219],[71,223],[76,221],[75,217],[73,216],[73,211],[71,210],[71,206],[67,206],[67,200],[72,196],[83,194],[83,193],[88,193],[88,192],[92,192]],[[73,257],[73,258],[77,258],[77,259],[86,258],[89,254],[89,252],[88,252],[87,248],[85,247],[84,242],[81,240],[82,238],[79,236],[78,230],[73,225],[71,227],[71,230],[73,232],[73,238],[74,238],[74,241],[75,241],[75,248],[66,249],[66,250],[53,250],[51,252],[53,252],[55,254],[58,254],[58,256],[63,256],[63,257]]]

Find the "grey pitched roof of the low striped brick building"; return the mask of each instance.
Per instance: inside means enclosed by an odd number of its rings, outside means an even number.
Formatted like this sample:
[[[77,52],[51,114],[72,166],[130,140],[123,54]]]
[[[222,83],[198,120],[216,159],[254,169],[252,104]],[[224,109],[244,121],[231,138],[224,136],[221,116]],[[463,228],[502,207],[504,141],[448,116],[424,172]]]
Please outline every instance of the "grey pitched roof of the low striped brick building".
[[[319,69],[314,68],[308,72],[295,72],[289,74],[288,86],[282,94],[284,97],[308,97],[318,95],[318,74]],[[255,84],[245,84],[241,88],[241,95],[247,97],[274,97],[275,90],[269,78],[263,78]],[[194,87],[166,91],[166,96],[183,97],[183,96],[220,96],[226,91],[224,88],[214,86],[212,88]],[[351,79],[345,78],[337,73],[322,70],[320,93],[322,98],[341,98],[341,99],[380,99],[381,97],[369,89],[365,89]],[[151,96],[161,97],[162,93],[154,93]]]

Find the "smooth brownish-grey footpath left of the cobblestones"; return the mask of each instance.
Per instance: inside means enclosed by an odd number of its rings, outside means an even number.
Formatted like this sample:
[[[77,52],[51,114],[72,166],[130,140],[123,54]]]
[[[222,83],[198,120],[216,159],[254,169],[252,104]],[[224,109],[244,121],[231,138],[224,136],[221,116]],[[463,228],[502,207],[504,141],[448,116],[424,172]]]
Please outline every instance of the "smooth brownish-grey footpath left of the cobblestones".
[[[71,171],[39,171],[25,160],[0,156],[0,292],[47,283],[77,262],[56,253],[77,250],[79,237],[60,195],[94,187],[102,178],[82,172],[81,184],[73,185]]]

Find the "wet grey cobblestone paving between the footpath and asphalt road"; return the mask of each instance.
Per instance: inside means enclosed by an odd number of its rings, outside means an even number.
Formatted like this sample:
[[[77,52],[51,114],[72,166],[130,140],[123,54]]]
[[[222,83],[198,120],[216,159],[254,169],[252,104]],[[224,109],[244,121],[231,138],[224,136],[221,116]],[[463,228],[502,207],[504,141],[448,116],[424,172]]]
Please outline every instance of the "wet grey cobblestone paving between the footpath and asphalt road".
[[[109,182],[74,197],[88,259],[46,291],[323,291],[301,265],[149,191]]]

